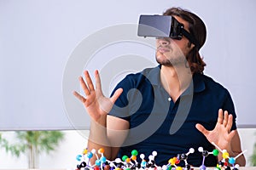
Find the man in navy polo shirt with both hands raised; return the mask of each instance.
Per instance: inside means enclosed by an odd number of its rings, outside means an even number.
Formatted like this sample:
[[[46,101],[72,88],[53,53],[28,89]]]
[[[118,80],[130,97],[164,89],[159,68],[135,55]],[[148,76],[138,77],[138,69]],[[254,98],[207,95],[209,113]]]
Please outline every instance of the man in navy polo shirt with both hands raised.
[[[202,156],[197,148],[210,152],[214,142],[235,157],[241,153],[241,143],[232,99],[228,90],[202,74],[206,64],[199,50],[206,41],[206,26],[182,8],[169,8],[164,15],[171,15],[187,34],[157,38],[159,66],[128,75],[109,99],[102,94],[98,71],[96,88],[88,71],[84,71],[87,83],[79,77],[86,97],[74,95],[92,120],[88,148],[104,148],[109,160],[131,155],[131,150],[146,156],[156,150],[158,165],[194,148],[188,162],[199,167]],[[214,167],[221,159],[221,154],[207,156],[206,165]],[[244,166],[244,156],[236,163]]]

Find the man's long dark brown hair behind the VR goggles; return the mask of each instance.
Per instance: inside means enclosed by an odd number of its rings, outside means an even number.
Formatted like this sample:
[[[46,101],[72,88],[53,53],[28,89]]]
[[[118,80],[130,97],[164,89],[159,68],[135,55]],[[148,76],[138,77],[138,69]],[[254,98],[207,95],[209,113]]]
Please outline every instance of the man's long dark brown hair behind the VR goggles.
[[[203,73],[206,63],[199,54],[199,49],[207,39],[207,28],[204,22],[196,15],[183,8],[169,8],[163,15],[176,15],[189,22],[189,32],[198,41],[199,46],[194,47],[186,56],[192,73]]]

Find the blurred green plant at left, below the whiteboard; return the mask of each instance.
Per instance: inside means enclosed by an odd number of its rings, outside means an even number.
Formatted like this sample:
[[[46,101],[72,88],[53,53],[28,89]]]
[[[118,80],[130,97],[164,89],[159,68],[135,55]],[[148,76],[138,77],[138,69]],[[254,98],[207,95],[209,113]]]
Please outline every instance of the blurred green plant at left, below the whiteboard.
[[[17,142],[10,144],[0,133],[0,146],[7,153],[20,157],[26,154],[29,168],[38,168],[38,155],[42,152],[49,154],[64,139],[64,133],[60,131],[17,131]]]

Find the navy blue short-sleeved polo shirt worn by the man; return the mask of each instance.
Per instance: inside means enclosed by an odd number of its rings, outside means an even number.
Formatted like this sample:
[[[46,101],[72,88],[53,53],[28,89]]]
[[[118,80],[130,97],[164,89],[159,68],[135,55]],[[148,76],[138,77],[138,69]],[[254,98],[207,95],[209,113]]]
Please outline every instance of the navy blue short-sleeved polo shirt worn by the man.
[[[158,153],[156,164],[162,166],[173,156],[186,154],[189,148],[194,148],[195,153],[189,154],[187,161],[199,167],[202,156],[198,148],[211,152],[214,147],[195,124],[201,123],[207,130],[212,130],[221,108],[233,115],[231,129],[236,129],[236,113],[230,93],[205,75],[194,74],[193,82],[175,103],[160,83],[160,65],[127,75],[113,91],[118,88],[124,91],[109,115],[130,122],[130,132],[119,150],[119,157],[131,156],[131,150],[137,150],[148,159],[155,150]],[[181,161],[181,166],[183,163]],[[206,157],[206,166],[216,164],[215,156]]]

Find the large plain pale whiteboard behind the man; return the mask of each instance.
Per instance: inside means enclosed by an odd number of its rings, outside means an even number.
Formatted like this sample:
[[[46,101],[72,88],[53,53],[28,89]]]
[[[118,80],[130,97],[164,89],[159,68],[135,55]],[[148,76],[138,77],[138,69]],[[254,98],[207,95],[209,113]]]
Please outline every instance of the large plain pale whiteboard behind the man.
[[[99,70],[109,95],[126,74],[157,65],[154,40],[135,26],[172,6],[205,21],[205,74],[229,89],[238,126],[256,127],[253,0],[0,0],[0,130],[88,129],[72,94],[78,77]]]

